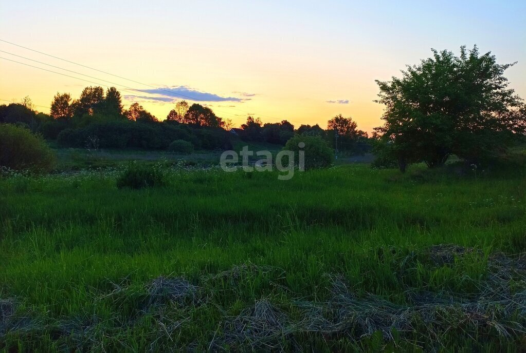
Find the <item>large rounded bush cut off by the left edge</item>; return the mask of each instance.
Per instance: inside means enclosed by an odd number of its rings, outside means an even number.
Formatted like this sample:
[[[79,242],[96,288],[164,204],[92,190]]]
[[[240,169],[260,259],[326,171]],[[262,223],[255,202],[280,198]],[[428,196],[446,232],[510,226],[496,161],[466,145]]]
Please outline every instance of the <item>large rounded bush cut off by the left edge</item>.
[[[0,124],[0,166],[49,172],[54,165],[53,151],[41,135],[13,124]]]

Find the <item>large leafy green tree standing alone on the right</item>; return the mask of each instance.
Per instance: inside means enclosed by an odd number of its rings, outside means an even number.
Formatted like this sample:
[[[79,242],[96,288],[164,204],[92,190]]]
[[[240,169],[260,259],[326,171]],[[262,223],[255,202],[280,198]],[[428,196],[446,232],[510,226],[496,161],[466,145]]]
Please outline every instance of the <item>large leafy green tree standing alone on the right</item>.
[[[432,50],[433,57],[402,71],[402,78],[376,81],[385,124],[376,130],[400,169],[412,162],[444,164],[452,154],[477,163],[524,135],[524,104],[491,52],[461,47]]]

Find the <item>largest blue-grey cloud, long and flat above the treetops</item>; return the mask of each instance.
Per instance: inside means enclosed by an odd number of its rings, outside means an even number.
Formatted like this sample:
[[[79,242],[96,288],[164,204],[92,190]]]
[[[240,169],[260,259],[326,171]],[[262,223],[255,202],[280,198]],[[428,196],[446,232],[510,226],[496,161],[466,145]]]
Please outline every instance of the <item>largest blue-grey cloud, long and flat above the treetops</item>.
[[[148,97],[146,95],[125,95],[124,98],[130,101],[145,100],[145,101],[159,101],[163,100],[167,103],[173,103],[177,100],[185,99],[196,102],[243,102],[250,100],[248,98],[240,97],[223,97],[219,94],[199,91],[188,86],[166,86],[151,89],[142,89],[145,93],[150,93],[155,96]],[[249,93],[240,92],[241,97],[251,97]],[[157,98],[154,98],[157,97]]]

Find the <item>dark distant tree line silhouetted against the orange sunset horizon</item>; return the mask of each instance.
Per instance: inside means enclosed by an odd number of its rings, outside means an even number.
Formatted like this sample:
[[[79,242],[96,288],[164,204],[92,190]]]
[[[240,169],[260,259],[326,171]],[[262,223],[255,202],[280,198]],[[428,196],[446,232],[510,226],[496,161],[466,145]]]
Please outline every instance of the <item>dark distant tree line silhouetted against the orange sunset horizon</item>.
[[[217,116],[210,107],[181,100],[160,121],[139,103],[125,109],[115,87],[106,91],[99,86],[86,87],[78,99],[57,93],[49,114],[37,113],[28,98],[22,103],[0,105],[0,122],[23,124],[63,147],[171,149],[184,145],[185,151],[230,149],[236,139],[284,146],[295,134],[308,134],[336,148],[333,136],[338,130],[341,152],[356,154],[370,149],[367,134],[358,130],[351,117],[341,114],[328,122],[327,130],[319,125],[301,125],[295,130],[287,120],[262,123],[253,116],[234,128],[229,119]]]

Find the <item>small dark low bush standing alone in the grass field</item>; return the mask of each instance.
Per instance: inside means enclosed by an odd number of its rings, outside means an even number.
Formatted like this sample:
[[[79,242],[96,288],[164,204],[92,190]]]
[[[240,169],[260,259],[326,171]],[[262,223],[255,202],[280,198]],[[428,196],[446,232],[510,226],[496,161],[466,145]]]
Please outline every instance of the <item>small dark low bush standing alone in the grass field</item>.
[[[159,164],[144,165],[131,163],[117,179],[117,187],[142,189],[166,185],[166,174]]]

